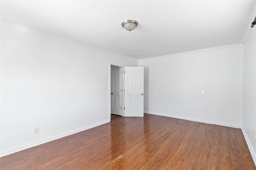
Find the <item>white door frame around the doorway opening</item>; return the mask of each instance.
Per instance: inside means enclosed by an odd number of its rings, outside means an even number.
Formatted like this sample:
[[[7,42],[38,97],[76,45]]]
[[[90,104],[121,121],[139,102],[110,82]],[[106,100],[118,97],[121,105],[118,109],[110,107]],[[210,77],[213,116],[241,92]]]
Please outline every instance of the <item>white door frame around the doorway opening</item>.
[[[113,63],[113,62],[109,62],[109,85],[108,85],[108,90],[109,90],[109,121],[111,121],[111,65],[114,65],[114,66],[119,66],[119,67],[122,67],[122,89],[124,89],[124,67],[126,65],[123,65],[123,64],[119,64],[119,63]],[[124,116],[124,90],[122,90],[122,116]]]

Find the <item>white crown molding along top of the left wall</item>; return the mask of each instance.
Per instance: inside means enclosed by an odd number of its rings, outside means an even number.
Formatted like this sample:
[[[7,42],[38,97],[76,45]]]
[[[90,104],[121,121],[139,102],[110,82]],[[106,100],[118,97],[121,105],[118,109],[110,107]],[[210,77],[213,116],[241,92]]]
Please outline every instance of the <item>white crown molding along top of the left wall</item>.
[[[30,29],[28,27],[24,27],[24,26],[21,26],[21,25],[17,25],[15,23],[10,23],[10,22],[7,22],[7,21],[3,21],[1,20],[1,24],[4,23],[4,24],[7,24],[7,25],[12,25],[12,26],[15,26],[15,27],[22,27],[23,29],[26,29],[30,32],[33,32],[33,33],[36,33],[36,34],[39,34],[39,35],[44,35],[46,37],[49,37],[51,39],[55,39],[55,40],[58,40],[58,41],[62,41],[62,42],[65,42],[65,43],[70,43],[72,45],[76,45],[76,46],[79,46],[79,47],[83,47],[83,48],[87,48],[87,49],[92,49],[94,51],[98,51],[98,52],[102,52],[102,53],[106,53],[106,54],[109,54],[109,55],[114,55],[116,57],[121,57],[121,58],[124,58],[124,59],[129,59],[129,60],[134,60],[134,61],[138,61],[138,59],[133,59],[133,58],[130,58],[130,57],[127,57],[127,56],[123,56],[123,55],[119,55],[119,54],[116,54],[116,53],[112,53],[110,51],[105,51],[105,50],[102,50],[102,49],[98,49],[98,48],[95,48],[95,47],[91,47],[89,45],[85,45],[85,44],[82,44],[82,43],[78,43],[76,41],[71,41],[69,39],[65,39],[65,38],[61,38],[61,37],[58,37],[58,36],[55,36],[55,35],[51,35],[51,34],[48,34],[48,33],[44,33],[44,32],[41,32],[41,31],[36,31],[34,29]]]

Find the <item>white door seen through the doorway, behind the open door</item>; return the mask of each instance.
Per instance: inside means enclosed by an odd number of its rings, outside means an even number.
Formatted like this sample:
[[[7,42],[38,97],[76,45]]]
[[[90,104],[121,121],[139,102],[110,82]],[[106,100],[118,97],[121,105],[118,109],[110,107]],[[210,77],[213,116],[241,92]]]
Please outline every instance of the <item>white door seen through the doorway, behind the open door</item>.
[[[111,113],[122,115],[122,68],[111,69]]]

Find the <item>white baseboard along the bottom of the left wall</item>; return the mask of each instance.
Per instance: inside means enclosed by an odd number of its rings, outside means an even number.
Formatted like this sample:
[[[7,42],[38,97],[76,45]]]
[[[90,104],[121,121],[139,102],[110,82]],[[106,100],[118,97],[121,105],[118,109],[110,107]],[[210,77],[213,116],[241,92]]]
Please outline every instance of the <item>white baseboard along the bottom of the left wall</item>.
[[[60,139],[62,137],[66,137],[66,136],[72,135],[74,133],[78,133],[78,132],[81,132],[81,131],[84,131],[84,130],[87,130],[87,129],[91,129],[93,127],[96,127],[96,126],[99,126],[99,125],[103,125],[103,124],[108,123],[108,122],[109,121],[102,121],[102,122],[96,123],[94,125],[82,127],[82,128],[79,128],[79,129],[76,129],[76,130],[73,130],[73,131],[65,132],[65,133],[61,133],[59,135],[55,135],[55,136],[52,136],[52,137],[41,139],[39,141],[34,141],[32,143],[28,143],[28,144],[25,144],[25,145],[20,145],[18,147],[12,148],[12,149],[3,150],[3,151],[0,152],[0,157],[6,156],[8,154],[15,153],[15,152],[19,152],[21,150],[25,150],[25,149],[28,149],[28,148],[31,148],[31,147],[35,147],[35,146],[38,146],[38,145],[41,145],[41,144],[44,144],[44,143],[47,143],[47,142],[50,142],[50,141],[54,141],[56,139]]]

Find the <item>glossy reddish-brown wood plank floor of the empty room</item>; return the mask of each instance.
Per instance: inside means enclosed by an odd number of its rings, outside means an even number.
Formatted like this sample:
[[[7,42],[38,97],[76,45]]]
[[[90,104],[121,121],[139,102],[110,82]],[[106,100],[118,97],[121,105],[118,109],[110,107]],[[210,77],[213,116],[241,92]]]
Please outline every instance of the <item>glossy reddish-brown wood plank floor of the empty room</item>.
[[[1,158],[1,170],[255,170],[241,129],[144,114]]]

